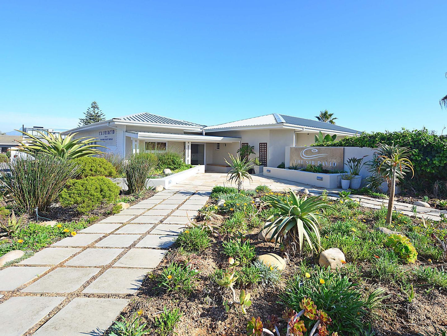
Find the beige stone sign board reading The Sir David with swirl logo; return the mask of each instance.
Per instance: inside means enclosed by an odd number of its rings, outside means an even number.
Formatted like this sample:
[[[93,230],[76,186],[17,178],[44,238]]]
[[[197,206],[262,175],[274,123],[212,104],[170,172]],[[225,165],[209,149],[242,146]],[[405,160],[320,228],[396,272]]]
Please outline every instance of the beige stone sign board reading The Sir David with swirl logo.
[[[290,147],[290,166],[323,166],[327,170],[343,170],[343,147]]]

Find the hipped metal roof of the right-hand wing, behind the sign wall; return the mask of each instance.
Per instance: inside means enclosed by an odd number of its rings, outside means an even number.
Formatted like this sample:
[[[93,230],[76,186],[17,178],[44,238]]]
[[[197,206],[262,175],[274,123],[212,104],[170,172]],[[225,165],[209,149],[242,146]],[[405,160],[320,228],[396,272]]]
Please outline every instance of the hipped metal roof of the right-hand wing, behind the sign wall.
[[[228,129],[237,130],[245,127],[256,128],[256,126],[270,126],[270,125],[271,126],[283,125],[287,127],[296,126],[300,128],[322,129],[333,132],[342,132],[350,134],[361,133],[355,129],[350,129],[339,125],[333,125],[327,122],[304,119],[296,116],[286,116],[284,114],[278,114],[278,113],[271,113],[265,116],[257,116],[254,118],[232,121],[220,125],[207,126],[204,127],[203,129],[205,131],[228,130]]]

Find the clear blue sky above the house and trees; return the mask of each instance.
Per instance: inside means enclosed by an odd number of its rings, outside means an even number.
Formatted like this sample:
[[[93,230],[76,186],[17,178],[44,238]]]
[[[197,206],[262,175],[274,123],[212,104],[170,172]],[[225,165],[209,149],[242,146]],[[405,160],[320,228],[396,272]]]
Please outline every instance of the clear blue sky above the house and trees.
[[[446,10],[446,1],[2,1],[0,130],[72,128],[96,100],[108,118],[145,111],[213,125],[328,109],[358,130],[440,132]]]

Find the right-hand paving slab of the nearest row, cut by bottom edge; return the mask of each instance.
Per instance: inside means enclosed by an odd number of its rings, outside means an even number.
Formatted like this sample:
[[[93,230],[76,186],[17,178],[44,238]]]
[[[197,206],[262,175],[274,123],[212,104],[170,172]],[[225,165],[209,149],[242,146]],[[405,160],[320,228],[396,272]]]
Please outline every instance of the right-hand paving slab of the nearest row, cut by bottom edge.
[[[34,336],[102,336],[128,302],[128,299],[77,297]]]

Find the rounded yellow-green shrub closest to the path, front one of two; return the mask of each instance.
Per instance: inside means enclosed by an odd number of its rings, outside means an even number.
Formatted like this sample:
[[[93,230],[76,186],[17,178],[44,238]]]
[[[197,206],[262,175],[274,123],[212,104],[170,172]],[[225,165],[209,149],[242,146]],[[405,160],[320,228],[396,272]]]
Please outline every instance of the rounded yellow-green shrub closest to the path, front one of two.
[[[118,198],[120,187],[103,176],[89,176],[67,182],[59,201],[64,207],[76,205],[76,210],[87,213],[102,202],[112,203]]]

